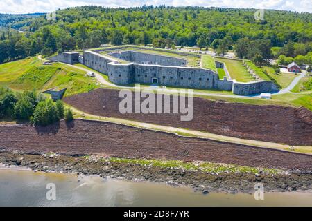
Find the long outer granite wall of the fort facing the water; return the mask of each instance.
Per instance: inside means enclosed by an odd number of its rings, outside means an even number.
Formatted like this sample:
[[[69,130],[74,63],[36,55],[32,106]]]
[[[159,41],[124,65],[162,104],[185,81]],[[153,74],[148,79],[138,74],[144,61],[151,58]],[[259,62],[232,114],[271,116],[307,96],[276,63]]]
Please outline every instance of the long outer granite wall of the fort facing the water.
[[[139,54],[139,56],[145,55],[145,53]],[[125,53],[123,56],[131,55]],[[85,66],[107,74],[114,84],[157,83],[163,86],[232,90],[232,81],[221,81],[214,71],[204,68],[157,64],[120,64],[111,57],[105,57],[105,55],[92,51],[83,53],[83,61]]]

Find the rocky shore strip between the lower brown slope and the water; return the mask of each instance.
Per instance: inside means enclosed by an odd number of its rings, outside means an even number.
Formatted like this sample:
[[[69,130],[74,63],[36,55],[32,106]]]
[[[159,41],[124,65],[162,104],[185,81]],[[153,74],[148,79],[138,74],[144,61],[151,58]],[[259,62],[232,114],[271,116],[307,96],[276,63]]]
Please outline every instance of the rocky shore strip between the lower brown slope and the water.
[[[125,162],[111,162],[99,157],[18,153],[3,151],[0,163],[26,166],[33,171],[100,175],[130,181],[162,182],[173,186],[191,186],[196,191],[254,193],[254,185],[261,182],[265,191],[309,191],[312,171],[296,170],[281,173],[207,173],[173,167],[143,166]]]

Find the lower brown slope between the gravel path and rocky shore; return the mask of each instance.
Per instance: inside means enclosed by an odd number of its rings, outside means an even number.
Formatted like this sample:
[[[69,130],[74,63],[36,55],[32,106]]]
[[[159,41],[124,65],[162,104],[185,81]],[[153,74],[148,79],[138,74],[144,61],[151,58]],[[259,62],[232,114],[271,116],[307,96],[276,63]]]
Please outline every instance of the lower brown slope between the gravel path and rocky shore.
[[[107,122],[75,120],[48,127],[0,126],[0,148],[26,153],[106,154],[168,160],[205,160],[247,166],[308,169],[312,155],[178,137]]]

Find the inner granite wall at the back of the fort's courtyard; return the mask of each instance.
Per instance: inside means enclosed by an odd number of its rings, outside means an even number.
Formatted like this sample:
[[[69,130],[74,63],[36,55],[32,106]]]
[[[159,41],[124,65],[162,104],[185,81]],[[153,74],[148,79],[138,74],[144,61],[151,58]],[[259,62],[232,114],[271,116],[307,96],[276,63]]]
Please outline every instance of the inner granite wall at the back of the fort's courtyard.
[[[159,64],[163,66],[186,66],[187,60],[164,55],[153,55],[132,50],[112,52],[108,55],[138,64]]]

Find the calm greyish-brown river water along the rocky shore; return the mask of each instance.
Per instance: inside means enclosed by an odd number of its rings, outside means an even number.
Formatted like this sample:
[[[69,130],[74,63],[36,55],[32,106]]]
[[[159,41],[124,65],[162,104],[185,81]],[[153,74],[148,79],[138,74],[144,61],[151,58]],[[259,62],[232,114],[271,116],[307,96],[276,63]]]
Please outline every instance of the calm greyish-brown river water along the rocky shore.
[[[47,200],[47,184],[55,200]],[[51,196],[51,195],[50,195]],[[0,169],[0,206],[312,206],[312,193],[202,193],[188,187]]]

